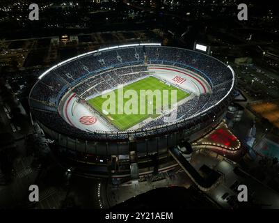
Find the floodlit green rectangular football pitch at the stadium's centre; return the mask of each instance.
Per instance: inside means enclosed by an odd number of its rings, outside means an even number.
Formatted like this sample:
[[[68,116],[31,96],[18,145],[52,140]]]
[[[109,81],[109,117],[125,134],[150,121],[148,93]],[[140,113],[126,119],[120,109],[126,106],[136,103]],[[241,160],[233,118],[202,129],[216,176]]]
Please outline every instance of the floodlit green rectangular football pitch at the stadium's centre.
[[[119,130],[127,130],[148,118],[161,116],[189,95],[156,77],[145,77],[89,99],[88,104]]]

